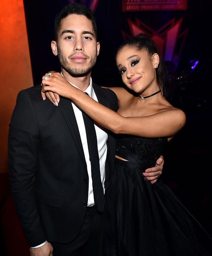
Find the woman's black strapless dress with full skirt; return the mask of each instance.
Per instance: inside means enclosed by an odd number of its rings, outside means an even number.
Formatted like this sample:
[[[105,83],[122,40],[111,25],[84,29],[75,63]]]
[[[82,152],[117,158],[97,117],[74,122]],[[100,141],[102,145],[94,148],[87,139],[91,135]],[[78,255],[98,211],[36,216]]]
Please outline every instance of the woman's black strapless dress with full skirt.
[[[159,178],[142,173],[163,154],[167,138],[117,137],[115,173],[103,215],[103,256],[211,256],[212,239]]]

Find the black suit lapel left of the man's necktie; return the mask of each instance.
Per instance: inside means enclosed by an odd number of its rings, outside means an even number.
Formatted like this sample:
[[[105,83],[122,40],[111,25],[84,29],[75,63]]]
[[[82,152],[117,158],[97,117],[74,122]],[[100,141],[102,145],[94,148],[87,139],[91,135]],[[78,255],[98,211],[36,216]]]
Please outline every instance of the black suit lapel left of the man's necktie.
[[[69,99],[65,99],[61,97],[58,106],[60,107],[60,110],[66,120],[66,123],[71,132],[73,140],[75,141],[78,152],[82,158],[83,164],[85,168],[87,168],[84,151],[82,147],[82,142],[81,142],[81,137],[80,137],[80,133],[77,125],[77,120],[75,118],[75,113],[74,113],[74,109],[72,107],[71,101]]]

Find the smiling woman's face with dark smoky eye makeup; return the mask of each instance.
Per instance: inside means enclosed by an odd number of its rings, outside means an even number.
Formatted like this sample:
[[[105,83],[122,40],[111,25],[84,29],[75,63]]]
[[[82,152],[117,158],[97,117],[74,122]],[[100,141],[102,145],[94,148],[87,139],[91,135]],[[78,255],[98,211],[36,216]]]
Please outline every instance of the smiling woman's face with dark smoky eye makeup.
[[[155,72],[155,66],[158,63],[157,54],[149,57],[146,50],[137,50],[128,46],[123,47],[116,56],[116,64],[122,81],[129,89],[137,93],[147,90],[146,93],[151,94],[158,88]]]

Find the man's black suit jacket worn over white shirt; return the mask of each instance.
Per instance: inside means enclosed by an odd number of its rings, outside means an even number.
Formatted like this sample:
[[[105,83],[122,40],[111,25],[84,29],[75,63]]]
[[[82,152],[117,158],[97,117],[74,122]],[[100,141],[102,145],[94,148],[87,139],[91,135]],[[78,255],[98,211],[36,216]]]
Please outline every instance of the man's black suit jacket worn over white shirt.
[[[110,89],[93,84],[98,101],[117,111]],[[88,171],[71,101],[55,107],[36,85],[19,92],[9,128],[10,186],[29,246],[68,243],[83,223]],[[105,189],[114,168],[115,140],[108,132]]]

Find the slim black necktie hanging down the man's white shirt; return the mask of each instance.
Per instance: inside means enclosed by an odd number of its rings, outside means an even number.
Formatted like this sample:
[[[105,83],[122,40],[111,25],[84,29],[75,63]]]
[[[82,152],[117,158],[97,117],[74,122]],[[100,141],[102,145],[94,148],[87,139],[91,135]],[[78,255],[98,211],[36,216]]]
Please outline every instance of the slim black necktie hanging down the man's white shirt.
[[[88,93],[86,94],[88,95]],[[82,116],[85,124],[86,137],[88,141],[88,151],[91,162],[91,177],[94,192],[94,204],[98,211],[103,212],[105,199],[100,175],[96,130],[94,127],[94,121],[84,111],[82,111]]]

